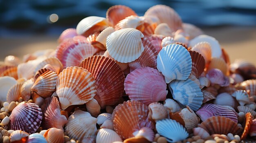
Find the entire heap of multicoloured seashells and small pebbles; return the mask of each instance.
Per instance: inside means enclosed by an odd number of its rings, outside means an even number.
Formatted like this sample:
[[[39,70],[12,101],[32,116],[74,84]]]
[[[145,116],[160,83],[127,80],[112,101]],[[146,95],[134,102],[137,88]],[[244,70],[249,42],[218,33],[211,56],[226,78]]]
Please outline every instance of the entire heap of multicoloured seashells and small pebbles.
[[[256,136],[256,67],[170,7],[122,5],[0,66],[3,143],[238,143]]]

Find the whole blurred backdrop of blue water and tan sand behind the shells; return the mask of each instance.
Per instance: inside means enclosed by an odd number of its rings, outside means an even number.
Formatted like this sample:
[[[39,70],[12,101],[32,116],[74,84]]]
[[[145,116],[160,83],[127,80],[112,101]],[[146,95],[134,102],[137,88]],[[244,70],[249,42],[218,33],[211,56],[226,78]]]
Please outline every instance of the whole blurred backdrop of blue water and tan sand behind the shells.
[[[231,62],[243,58],[256,64],[256,0],[0,0],[0,60],[55,49],[62,31],[88,16],[106,17],[116,4],[140,16],[156,4],[168,5],[183,22],[215,37]]]

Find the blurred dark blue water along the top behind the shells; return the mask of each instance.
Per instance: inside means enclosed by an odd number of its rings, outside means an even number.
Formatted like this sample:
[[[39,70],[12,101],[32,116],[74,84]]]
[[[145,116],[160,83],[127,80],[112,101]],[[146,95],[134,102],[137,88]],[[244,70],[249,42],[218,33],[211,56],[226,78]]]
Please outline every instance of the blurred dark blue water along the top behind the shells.
[[[0,0],[0,36],[59,35],[87,16],[106,17],[107,9],[116,4],[126,5],[138,15],[165,4],[183,22],[197,26],[256,26],[256,0]],[[53,13],[58,21],[49,23]]]

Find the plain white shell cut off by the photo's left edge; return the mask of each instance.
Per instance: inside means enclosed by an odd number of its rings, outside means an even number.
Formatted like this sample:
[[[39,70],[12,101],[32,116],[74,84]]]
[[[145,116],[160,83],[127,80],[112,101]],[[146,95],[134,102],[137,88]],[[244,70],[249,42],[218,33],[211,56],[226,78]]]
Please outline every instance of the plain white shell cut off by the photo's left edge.
[[[13,77],[5,76],[0,77],[0,101],[7,101],[8,91],[12,86],[17,84],[17,81]]]

